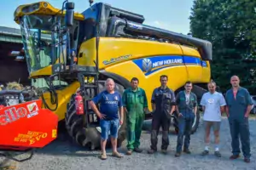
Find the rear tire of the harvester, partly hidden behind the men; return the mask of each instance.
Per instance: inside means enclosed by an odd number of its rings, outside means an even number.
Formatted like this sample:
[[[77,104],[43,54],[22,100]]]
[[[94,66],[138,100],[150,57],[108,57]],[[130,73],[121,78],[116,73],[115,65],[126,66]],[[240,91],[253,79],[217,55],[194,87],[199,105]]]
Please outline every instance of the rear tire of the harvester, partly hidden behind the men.
[[[200,106],[200,101],[201,101],[201,97],[203,94],[205,94],[207,92],[206,89],[204,88],[201,88],[199,86],[196,86],[194,85],[193,89],[192,89],[192,92],[196,95],[197,97],[197,103],[198,103],[198,109],[197,109],[197,112],[195,114],[195,120],[193,122],[193,125],[192,125],[192,130],[191,130],[191,133],[195,133],[197,128],[199,127],[199,124],[200,124],[200,118],[201,118],[201,106]],[[173,126],[174,126],[174,129],[175,129],[175,133],[178,133],[178,117],[177,117],[177,112],[174,112],[174,117],[173,117]]]

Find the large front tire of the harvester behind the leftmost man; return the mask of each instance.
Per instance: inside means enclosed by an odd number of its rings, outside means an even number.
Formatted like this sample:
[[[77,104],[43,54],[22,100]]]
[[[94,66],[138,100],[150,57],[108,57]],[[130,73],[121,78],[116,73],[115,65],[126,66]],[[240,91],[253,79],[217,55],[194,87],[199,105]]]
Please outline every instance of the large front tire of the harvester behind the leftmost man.
[[[99,81],[99,91],[102,92],[104,90],[104,81]],[[115,90],[119,92],[119,94],[124,93],[124,87],[115,83]],[[90,93],[89,91],[87,93]],[[67,113],[65,116],[66,128],[69,135],[73,138],[73,140],[90,150],[97,150],[101,147],[101,127],[83,127],[83,116],[79,116],[75,111],[75,94],[70,99],[70,102],[67,105]],[[125,140],[126,136],[126,116],[124,113],[124,122],[123,125],[119,127],[119,137],[118,137],[118,147]],[[108,136],[107,147],[111,146],[110,136]]]

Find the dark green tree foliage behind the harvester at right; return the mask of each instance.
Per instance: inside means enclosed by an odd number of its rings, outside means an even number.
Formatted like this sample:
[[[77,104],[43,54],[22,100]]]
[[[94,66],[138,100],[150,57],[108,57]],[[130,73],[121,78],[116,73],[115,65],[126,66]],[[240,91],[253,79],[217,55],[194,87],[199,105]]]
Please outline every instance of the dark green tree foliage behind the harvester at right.
[[[237,75],[256,94],[256,1],[195,0],[191,10],[193,37],[212,42],[212,79],[225,91]]]

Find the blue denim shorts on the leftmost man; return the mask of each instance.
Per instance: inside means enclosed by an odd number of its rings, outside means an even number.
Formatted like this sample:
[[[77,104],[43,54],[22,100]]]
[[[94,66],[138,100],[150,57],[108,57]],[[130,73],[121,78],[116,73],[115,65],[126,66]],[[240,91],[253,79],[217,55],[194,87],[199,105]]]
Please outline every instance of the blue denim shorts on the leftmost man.
[[[110,131],[110,135],[112,138],[117,139],[119,132],[119,119],[113,120],[104,120],[100,121],[100,126],[102,128],[102,139],[108,139],[108,133]]]

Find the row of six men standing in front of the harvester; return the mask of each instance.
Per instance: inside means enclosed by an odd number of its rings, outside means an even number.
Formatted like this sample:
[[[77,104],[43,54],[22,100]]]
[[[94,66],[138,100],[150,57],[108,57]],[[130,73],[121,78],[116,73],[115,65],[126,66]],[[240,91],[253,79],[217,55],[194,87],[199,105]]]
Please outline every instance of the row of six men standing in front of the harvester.
[[[167,87],[168,77],[160,76],[160,87],[155,88],[152,94],[152,131],[151,145],[148,154],[157,151],[158,134],[160,127],[162,128],[162,144],[161,151],[166,154],[169,145],[169,127],[171,117],[176,116],[178,122],[176,157],[181,156],[182,149],[184,153],[190,154],[190,133],[195,116],[198,109],[197,97],[191,92],[193,88],[192,82],[186,82],[184,90],[178,92],[175,96],[171,88]],[[241,150],[243,152],[244,161],[250,162],[250,133],[248,127],[248,116],[253,105],[250,94],[246,88],[239,85],[239,77],[230,78],[232,88],[226,94],[216,91],[216,83],[211,81],[208,83],[208,90],[203,94],[200,105],[203,110],[203,120],[205,127],[205,149],[201,152],[201,156],[209,154],[210,131],[213,128],[215,137],[214,155],[220,157],[219,151],[219,129],[221,124],[221,116],[225,112],[230,123],[230,134],[232,138],[232,156],[230,159],[236,159],[240,155],[239,137],[241,139]],[[142,133],[145,112],[148,111],[148,99],[143,88],[138,87],[139,80],[136,77],[131,79],[131,88],[125,89],[123,96],[114,91],[113,79],[108,78],[105,83],[106,90],[91,99],[90,106],[101,119],[100,126],[102,128],[102,160],[107,159],[106,143],[108,133],[110,132],[111,142],[113,145],[113,156],[122,157],[117,150],[117,138],[119,126],[123,124],[124,111],[126,115],[127,127],[127,155],[131,155],[133,151],[142,152],[139,148],[140,137]],[[96,104],[101,104],[100,111]],[[184,139],[183,139],[184,138]]]

